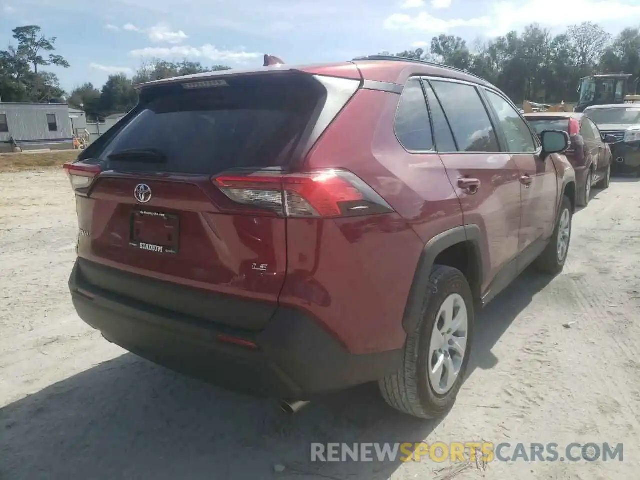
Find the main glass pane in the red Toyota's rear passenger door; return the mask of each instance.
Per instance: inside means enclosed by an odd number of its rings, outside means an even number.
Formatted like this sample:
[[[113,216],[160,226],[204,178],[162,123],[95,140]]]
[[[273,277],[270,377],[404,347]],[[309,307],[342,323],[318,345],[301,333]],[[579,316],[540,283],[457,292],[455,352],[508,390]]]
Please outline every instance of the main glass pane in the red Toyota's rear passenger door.
[[[461,152],[499,152],[493,125],[476,87],[431,81]]]

